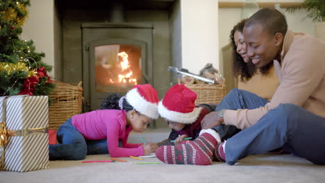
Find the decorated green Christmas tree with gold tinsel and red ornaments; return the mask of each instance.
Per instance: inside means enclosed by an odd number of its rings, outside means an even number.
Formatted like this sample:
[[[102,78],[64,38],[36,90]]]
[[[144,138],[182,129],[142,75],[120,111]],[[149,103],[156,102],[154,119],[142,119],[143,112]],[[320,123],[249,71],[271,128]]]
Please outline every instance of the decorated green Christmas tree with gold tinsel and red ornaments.
[[[21,40],[29,0],[0,1],[0,96],[49,95],[54,84],[32,40]]]

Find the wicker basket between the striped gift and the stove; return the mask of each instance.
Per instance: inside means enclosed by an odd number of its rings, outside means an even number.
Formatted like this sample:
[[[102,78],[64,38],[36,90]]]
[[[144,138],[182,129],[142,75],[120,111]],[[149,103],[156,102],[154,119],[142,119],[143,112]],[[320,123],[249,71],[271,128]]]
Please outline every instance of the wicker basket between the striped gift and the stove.
[[[56,87],[49,94],[49,129],[57,130],[58,127],[75,114],[80,114],[83,108],[83,89],[81,83],[77,86],[65,82],[54,81]]]

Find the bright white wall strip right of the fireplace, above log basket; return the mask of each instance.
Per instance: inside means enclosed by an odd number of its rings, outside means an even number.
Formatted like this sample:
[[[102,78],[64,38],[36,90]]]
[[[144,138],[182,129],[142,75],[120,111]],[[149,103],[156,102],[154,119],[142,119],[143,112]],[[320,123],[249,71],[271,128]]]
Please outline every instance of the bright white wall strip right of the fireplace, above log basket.
[[[199,73],[206,63],[219,68],[218,1],[181,0],[182,67]]]

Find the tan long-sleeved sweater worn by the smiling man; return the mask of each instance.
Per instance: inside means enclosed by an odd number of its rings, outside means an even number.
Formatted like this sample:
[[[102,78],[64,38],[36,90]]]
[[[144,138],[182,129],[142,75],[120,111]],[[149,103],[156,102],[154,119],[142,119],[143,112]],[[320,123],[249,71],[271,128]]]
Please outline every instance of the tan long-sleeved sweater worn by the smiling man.
[[[281,64],[274,60],[280,85],[272,100],[255,110],[226,110],[224,122],[244,129],[255,124],[280,103],[292,103],[325,117],[325,44],[303,33],[288,30]]]

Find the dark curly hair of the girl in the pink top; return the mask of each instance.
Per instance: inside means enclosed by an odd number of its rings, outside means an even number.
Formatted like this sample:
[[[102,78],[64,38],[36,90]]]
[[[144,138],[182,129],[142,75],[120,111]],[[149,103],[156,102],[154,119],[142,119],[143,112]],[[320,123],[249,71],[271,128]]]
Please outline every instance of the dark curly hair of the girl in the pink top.
[[[121,110],[119,107],[119,99],[122,97],[120,94],[110,94],[106,97],[103,102],[101,102],[101,110]],[[123,110],[126,112],[134,110],[134,108],[126,101],[126,98],[123,99]],[[135,110],[136,111],[136,110]]]

